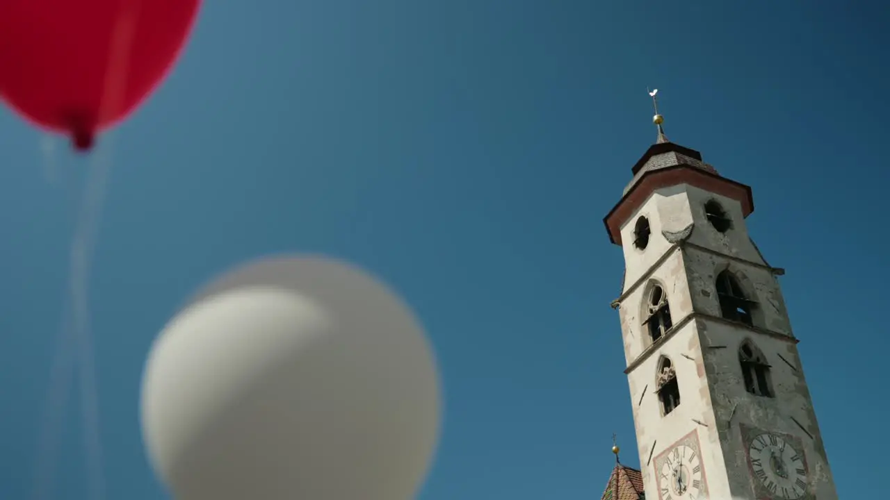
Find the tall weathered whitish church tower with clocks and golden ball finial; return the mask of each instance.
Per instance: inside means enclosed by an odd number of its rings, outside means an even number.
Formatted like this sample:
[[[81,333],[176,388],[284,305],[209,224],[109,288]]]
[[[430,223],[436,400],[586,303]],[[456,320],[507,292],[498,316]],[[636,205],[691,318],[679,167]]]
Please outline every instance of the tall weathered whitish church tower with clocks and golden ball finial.
[[[612,307],[644,497],[837,500],[777,278],[784,270],[745,227],[751,189],[667,140],[657,92],[658,139],[603,221],[624,249]]]

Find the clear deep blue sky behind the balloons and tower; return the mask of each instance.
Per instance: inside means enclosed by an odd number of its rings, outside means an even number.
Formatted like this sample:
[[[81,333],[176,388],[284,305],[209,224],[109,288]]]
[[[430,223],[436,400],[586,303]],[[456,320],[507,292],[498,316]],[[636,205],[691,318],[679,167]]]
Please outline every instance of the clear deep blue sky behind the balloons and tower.
[[[445,431],[422,500],[598,497],[638,464],[602,218],[655,139],[748,183],[838,493],[878,490],[886,420],[888,7],[878,2],[208,2],[110,139],[93,272],[109,498],[165,494],[142,363],[176,308],[261,254],[357,262],[432,337]],[[0,496],[28,498],[85,161],[0,112]],[[52,169],[51,169],[52,170]],[[79,411],[55,498],[86,499]],[[883,415],[883,416],[882,416]]]

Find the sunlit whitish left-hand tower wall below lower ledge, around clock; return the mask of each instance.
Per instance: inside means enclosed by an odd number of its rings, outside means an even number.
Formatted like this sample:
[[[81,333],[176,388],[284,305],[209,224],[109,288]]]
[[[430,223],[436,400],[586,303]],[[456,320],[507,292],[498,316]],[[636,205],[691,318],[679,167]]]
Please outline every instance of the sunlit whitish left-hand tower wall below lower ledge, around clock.
[[[701,464],[708,481],[708,491],[711,497],[720,497],[729,488],[724,454],[719,446],[713,412],[710,411],[710,392],[700,355],[696,322],[688,323],[665,341],[659,342],[656,347],[657,351],[639,367],[635,367],[627,377],[634,405],[634,423],[646,497],[659,498],[655,457],[694,430],[699,431]],[[684,357],[684,354],[692,359]],[[662,356],[667,356],[676,368],[677,383],[680,386],[680,406],[668,415],[661,414],[659,397],[655,392]],[[696,423],[693,419],[705,425]]]

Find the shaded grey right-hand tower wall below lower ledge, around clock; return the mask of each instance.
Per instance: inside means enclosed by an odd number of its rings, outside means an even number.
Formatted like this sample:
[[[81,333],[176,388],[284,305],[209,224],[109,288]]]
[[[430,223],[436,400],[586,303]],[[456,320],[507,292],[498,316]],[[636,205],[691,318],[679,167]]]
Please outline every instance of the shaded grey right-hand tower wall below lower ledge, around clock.
[[[804,449],[798,451],[803,452],[806,457],[813,499],[837,500],[837,491],[816,423],[813,401],[806,387],[797,345],[790,339],[761,335],[746,328],[714,321],[699,323],[714,414],[718,425],[727,430],[722,440],[712,445],[725,450],[724,459],[728,466],[731,493],[743,497],[754,494],[754,483],[745,455],[748,443],[741,442],[739,424],[743,423],[799,438]],[[763,352],[772,367],[770,375],[774,398],[758,397],[745,391],[739,364],[739,347],[745,339],[751,340]],[[725,348],[714,349],[715,346]],[[806,431],[797,426],[795,420]]]

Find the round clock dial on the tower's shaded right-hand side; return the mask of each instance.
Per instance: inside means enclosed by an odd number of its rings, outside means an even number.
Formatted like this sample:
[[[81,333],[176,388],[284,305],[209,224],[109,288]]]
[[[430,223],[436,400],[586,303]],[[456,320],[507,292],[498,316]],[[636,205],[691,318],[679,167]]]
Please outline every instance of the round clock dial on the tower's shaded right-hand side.
[[[756,480],[773,497],[795,500],[806,493],[804,458],[781,436],[758,434],[748,446],[748,460]]]

